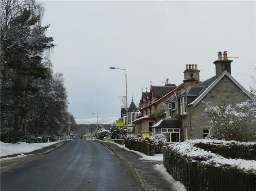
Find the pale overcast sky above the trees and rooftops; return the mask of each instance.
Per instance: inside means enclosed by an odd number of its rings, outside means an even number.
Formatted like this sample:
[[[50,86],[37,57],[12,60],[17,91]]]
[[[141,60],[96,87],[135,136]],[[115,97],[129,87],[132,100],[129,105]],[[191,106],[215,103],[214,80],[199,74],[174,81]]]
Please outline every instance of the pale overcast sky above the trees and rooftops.
[[[43,1],[42,25],[54,38],[50,59],[62,72],[68,110],[76,119],[119,117],[152,85],[179,85],[185,64],[200,81],[215,76],[217,51],[234,58],[232,76],[246,89],[256,63],[254,1]]]

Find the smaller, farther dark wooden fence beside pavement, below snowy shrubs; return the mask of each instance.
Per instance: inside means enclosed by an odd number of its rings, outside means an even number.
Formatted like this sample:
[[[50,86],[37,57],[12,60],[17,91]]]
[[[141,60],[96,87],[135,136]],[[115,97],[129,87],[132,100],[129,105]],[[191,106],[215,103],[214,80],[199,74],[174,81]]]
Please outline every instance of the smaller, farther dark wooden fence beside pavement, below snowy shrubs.
[[[131,140],[125,140],[124,144],[125,144],[125,147],[127,147],[128,149],[139,151],[149,156],[154,155],[152,151],[153,149],[152,144],[138,142],[138,141],[131,141]]]

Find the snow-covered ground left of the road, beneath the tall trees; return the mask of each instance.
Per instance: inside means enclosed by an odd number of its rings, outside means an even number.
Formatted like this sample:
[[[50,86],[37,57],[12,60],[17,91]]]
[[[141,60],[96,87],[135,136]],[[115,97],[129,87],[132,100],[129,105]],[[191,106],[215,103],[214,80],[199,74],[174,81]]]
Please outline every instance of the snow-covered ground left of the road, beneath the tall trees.
[[[18,154],[18,153],[29,153],[31,151],[41,149],[43,147],[47,147],[52,144],[56,144],[60,142],[59,140],[50,142],[50,143],[25,143],[25,142],[18,142],[15,144],[12,143],[4,143],[0,141],[0,150],[1,150],[1,157],[7,156],[11,154]]]

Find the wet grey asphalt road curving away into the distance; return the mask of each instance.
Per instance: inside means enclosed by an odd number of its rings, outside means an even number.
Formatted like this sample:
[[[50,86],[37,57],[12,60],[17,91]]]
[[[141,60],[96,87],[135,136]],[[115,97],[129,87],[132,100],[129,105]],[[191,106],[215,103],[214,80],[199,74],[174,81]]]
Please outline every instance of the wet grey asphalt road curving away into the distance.
[[[114,153],[89,140],[70,141],[0,178],[1,191],[140,190]]]

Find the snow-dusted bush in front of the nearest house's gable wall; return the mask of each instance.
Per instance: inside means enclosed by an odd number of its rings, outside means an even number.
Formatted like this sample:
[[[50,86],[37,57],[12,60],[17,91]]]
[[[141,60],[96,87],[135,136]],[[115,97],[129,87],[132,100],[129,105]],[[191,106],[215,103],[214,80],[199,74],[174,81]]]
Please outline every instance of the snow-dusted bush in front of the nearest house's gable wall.
[[[205,114],[210,118],[212,139],[255,141],[256,140],[256,102],[238,103],[236,106],[212,106],[206,103]]]

